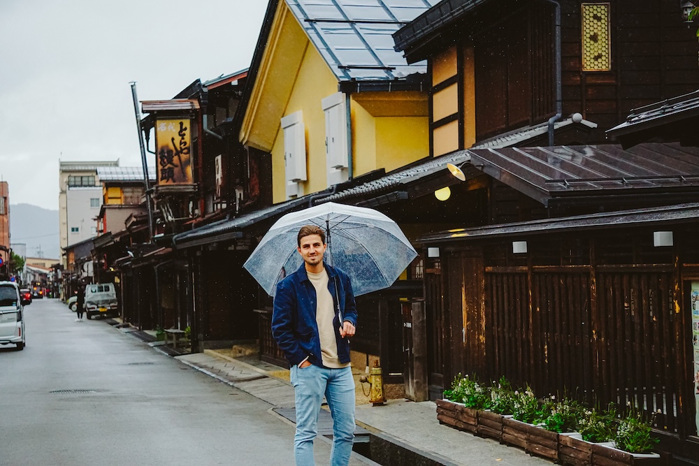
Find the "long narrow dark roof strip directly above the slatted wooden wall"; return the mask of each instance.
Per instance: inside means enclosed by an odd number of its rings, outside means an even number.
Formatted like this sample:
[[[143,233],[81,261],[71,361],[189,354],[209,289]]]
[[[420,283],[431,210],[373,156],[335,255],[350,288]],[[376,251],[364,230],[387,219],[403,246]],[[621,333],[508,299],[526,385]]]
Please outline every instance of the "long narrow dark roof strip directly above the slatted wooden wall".
[[[533,235],[538,233],[561,233],[563,231],[597,230],[605,228],[633,228],[655,226],[668,223],[698,221],[699,203],[686,203],[665,207],[619,210],[601,214],[577,215],[557,219],[522,221],[512,224],[480,226],[475,228],[455,228],[438,233],[430,233],[417,239],[421,243],[463,241],[498,238],[512,235]]]

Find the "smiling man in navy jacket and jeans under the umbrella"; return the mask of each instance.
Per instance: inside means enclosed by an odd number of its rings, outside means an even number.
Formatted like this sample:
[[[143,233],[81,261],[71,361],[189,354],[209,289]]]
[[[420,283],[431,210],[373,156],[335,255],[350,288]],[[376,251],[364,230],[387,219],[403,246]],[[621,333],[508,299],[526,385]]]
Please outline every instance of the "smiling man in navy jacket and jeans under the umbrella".
[[[354,378],[349,337],[356,329],[356,306],[347,274],[323,261],[325,232],[315,225],[298,231],[303,258],[296,272],[277,286],[272,335],[291,364],[296,400],[294,457],[314,465],[313,439],[323,395],[333,416],[332,466],[346,466],[354,439]]]

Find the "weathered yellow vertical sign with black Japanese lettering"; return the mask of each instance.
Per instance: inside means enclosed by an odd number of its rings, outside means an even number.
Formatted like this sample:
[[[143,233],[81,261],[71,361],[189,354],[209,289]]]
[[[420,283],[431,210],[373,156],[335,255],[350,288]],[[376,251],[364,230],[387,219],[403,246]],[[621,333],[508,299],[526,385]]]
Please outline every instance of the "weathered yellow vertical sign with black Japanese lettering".
[[[158,184],[193,184],[192,129],[189,119],[159,119],[155,124]]]

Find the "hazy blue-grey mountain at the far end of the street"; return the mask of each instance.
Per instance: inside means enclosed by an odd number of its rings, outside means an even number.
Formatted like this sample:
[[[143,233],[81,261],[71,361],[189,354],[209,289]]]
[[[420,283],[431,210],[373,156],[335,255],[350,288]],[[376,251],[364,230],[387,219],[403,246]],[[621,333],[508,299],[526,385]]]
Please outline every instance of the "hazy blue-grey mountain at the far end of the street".
[[[10,243],[27,245],[27,256],[61,259],[58,210],[10,204]]]

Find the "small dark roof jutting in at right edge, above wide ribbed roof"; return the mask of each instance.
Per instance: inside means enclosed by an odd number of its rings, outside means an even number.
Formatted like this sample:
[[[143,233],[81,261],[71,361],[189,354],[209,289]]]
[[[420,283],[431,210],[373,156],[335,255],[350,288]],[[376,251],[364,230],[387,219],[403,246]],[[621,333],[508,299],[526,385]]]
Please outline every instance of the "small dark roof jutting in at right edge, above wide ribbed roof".
[[[617,138],[625,147],[658,136],[696,141],[698,121],[699,90],[635,108],[626,117],[626,122],[607,130],[607,136]],[[678,125],[679,122],[689,123],[689,131]]]

